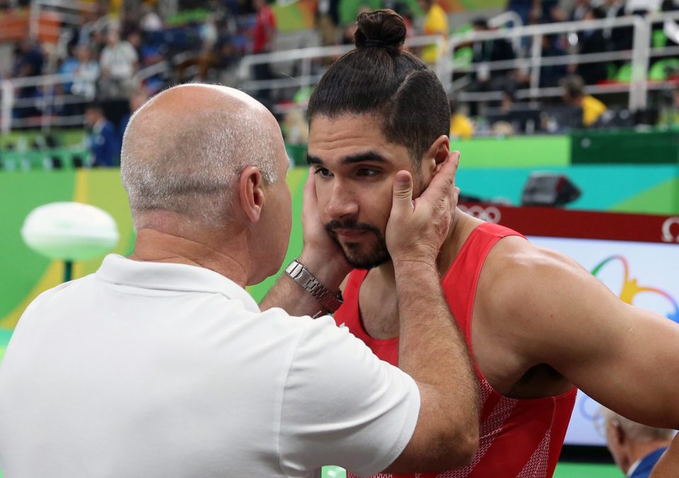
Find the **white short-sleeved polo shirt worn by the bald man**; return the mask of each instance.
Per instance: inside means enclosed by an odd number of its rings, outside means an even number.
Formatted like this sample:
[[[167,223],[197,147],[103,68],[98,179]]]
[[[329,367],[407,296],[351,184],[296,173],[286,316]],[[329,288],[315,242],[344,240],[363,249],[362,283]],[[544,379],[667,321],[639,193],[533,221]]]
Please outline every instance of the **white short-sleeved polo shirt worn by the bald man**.
[[[330,317],[260,312],[216,272],[117,255],[31,303],[0,391],[5,478],[374,474],[420,403]]]

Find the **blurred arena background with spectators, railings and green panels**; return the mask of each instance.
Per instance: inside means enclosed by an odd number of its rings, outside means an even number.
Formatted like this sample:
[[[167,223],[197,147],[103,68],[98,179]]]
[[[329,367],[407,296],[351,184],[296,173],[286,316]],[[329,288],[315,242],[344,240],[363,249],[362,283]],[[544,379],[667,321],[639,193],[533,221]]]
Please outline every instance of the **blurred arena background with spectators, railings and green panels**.
[[[65,266],[30,250],[20,233],[30,211],[97,206],[117,225],[112,252],[131,251],[120,144],[163,88],[221,83],[269,107],[298,218],[309,95],[352,48],[356,14],[374,8],[406,19],[407,48],[446,88],[463,209],[678,321],[679,1],[0,0],[0,360],[64,267],[76,278],[101,262]],[[259,300],[272,281],[250,292]],[[581,395],[555,476],[623,476],[598,420]]]

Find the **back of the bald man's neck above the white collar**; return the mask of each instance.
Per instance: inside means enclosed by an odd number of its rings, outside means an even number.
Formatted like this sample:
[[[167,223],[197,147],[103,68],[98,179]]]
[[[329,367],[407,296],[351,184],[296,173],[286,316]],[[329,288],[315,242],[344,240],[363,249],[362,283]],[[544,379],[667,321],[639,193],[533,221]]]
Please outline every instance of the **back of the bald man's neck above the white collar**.
[[[203,237],[201,237],[203,236]],[[249,261],[238,238],[216,241],[210,233],[179,235],[168,231],[142,228],[137,231],[132,260],[170,262],[204,267],[236,282],[241,287],[248,283]],[[214,245],[219,243],[219,246]],[[228,251],[228,252],[226,252]]]

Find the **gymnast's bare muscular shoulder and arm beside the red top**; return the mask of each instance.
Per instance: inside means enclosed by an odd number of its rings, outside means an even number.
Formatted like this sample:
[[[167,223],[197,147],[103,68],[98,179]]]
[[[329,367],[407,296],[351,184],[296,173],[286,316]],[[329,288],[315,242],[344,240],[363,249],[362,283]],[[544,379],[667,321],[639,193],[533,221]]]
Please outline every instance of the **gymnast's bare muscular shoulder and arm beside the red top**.
[[[546,363],[629,419],[679,428],[679,325],[623,303],[567,257],[509,239],[502,261],[494,252],[484,315],[526,370]]]

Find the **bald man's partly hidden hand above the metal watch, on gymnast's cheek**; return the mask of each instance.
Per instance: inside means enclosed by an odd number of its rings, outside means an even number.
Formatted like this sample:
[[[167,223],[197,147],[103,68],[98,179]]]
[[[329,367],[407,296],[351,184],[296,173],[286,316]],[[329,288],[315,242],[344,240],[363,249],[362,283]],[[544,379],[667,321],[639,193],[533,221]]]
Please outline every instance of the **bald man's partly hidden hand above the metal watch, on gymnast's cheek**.
[[[323,221],[318,212],[318,199],[316,197],[316,186],[313,178],[313,169],[309,170],[309,175],[304,185],[304,204],[302,207],[302,228],[304,247],[300,255],[300,260],[307,267],[314,264],[330,264],[333,269],[337,269],[342,277],[351,272],[352,267],[344,258],[344,252],[330,233],[325,229]]]

